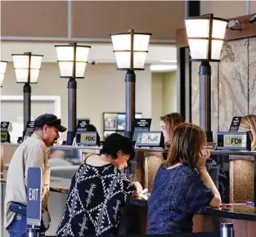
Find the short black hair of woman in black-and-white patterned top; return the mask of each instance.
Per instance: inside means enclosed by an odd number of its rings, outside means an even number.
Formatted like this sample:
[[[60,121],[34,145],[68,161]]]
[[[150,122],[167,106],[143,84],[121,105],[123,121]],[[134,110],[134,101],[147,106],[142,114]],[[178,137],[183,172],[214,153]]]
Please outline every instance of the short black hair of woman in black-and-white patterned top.
[[[112,133],[110,136],[106,137],[100,154],[110,155],[112,159],[117,159],[119,150],[122,150],[124,154],[130,154],[130,159],[134,156],[132,141],[119,133]]]

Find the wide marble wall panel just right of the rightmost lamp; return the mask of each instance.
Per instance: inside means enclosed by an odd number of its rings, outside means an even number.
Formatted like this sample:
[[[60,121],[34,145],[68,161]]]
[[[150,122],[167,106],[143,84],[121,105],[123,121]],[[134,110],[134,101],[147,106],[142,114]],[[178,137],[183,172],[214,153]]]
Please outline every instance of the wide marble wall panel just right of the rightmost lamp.
[[[219,63],[219,131],[248,114],[248,39],[225,42]]]

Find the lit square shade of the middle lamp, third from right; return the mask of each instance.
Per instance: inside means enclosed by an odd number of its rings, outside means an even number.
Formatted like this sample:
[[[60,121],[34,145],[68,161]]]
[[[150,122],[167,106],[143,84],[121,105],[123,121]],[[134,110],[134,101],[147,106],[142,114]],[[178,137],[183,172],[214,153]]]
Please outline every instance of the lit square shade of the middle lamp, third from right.
[[[84,78],[91,47],[76,42],[55,47],[61,78]]]

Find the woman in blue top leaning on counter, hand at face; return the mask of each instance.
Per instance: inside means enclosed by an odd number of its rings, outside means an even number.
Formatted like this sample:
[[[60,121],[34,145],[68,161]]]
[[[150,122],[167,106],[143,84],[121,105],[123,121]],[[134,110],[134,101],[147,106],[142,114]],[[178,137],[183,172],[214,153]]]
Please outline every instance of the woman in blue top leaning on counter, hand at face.
[[[192,231],[192,217],[207,206],[218,208],[221,197],[205,168],[209,150],[204,150],[204,131],[182,123],[173,133],[168,159],[155,176],[148,202],[150,235]]]

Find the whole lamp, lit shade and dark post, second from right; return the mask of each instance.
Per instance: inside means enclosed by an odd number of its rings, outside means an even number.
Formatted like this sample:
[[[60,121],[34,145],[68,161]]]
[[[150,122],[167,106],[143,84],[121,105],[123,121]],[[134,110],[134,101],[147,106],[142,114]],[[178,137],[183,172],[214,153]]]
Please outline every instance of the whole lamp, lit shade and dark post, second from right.
[[[134,29],[125,33],[110,34],[119,70],[127,70],[125,75],[125,113],[126,127],[124,136],[132,139],[135,120],[135,83],[134,70],[144,70],[150,33],[136,33]]]

